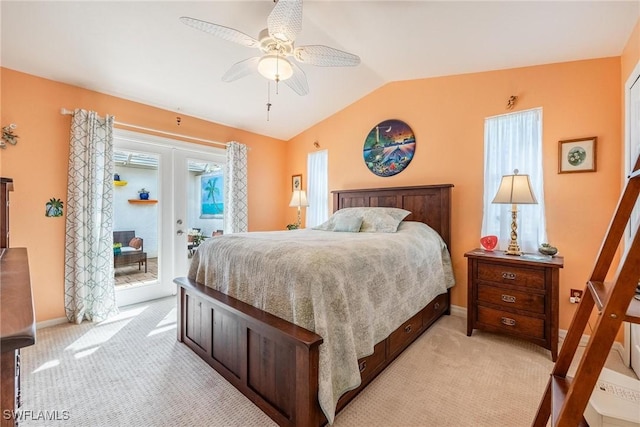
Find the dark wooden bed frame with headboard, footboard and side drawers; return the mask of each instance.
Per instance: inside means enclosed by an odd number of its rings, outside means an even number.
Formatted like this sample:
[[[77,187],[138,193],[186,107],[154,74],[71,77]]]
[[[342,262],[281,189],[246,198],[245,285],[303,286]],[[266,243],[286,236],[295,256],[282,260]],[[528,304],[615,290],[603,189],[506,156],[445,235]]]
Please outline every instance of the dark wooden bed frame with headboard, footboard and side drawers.
[[[411,211],[406,220],[427,223],[451,250],[453,185],[333,191],[334,211],[386,206]],[[327,420],[318,404],[318,356],[322,337],[249,304],[177,278],[178,341],[184,342],[281,426],[319,426]],[[343,395],[336,413],[443,314],[450,292],[408,319],[371,356],[360,359],[362,384]]]

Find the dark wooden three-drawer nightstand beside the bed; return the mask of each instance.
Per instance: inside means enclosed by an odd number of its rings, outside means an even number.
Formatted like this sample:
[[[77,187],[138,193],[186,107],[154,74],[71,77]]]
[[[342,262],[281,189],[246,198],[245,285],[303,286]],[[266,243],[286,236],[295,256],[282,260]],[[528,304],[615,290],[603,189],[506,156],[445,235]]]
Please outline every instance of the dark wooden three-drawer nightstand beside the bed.
[[[474,329],[511,335],[558,357],[559,269],[563,257],[474,249],[468,258],[467,336]]]

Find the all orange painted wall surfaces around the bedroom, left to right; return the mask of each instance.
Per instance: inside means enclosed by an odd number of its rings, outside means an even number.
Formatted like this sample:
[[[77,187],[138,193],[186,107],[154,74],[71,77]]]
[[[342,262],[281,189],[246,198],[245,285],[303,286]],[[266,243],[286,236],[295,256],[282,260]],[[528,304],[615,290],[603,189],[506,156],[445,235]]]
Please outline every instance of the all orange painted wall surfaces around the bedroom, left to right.
[[[453,183],[452,256],[458,286],[453,303],[466,306],[463,253],[478,245],[482,218],[484,118],[543,107],[545,196],[549,240],[565,257],[561,270],[560,327],[574,306],[571,287],[583,287],[620,191],[624,122],[622,89],[640,60],[640,21],[624,52],[604,58],[511,70],[390,83],[311,127],[288,143],[174,112],[0,68],[1,124],[16,123],[20,142],[0,151],[0,175],[14,178],[11,243],[29,248],[37,320],[64,315],[64,220],[45,218],[50,197],[66,199],[68,116],[61,107],[113,114],[126,123],[222,142],[237,140],[249,152],[249,228],[282,229],[295,221],[287,208],[291,175],[306,179],[306,155],[329,150],[329,187],[390,187]],[[362,161],[362,143],[378,122],[398,118],[418,140],[402,174],[377,177]],[[558,140],[598,136],[598,171],[557,174]],[[276,172],[274,172],[276,171]],[[282,171],[278,173],[277,171]],[[596,202],[598,209],[587,211]]]

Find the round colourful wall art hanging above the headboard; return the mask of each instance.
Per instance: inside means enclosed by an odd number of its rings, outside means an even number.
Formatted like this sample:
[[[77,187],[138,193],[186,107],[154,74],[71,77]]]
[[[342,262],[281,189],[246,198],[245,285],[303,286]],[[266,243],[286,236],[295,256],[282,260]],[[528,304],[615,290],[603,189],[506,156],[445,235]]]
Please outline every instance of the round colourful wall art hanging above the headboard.
[[[415,150],[416,138],[409,125],[401,120],[385,120],[371,129],[362,154],[371,172],[393,176],[406,169]]]

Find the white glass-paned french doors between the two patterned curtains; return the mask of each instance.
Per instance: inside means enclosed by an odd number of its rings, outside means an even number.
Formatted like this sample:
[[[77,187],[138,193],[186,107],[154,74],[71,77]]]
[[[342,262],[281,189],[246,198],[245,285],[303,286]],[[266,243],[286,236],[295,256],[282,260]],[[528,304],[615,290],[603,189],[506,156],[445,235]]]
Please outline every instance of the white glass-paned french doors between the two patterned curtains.
[[[189,258],[197,250],[194,235],[198,233],[199,243],[223,229],[221,212],[210,213],[208,196],[220,203],[221,211],[224,160],[222,149],[114,131],[119,175],[119,183],[114,181],[114,231],[141,237],[147,259],[129,265],[116,262],[118,306],[175,294],[173,279],[187,275]],[[207,187],[208,179],[213,187]],[[147,200],[140,200],[143,188],[150,193]]]

